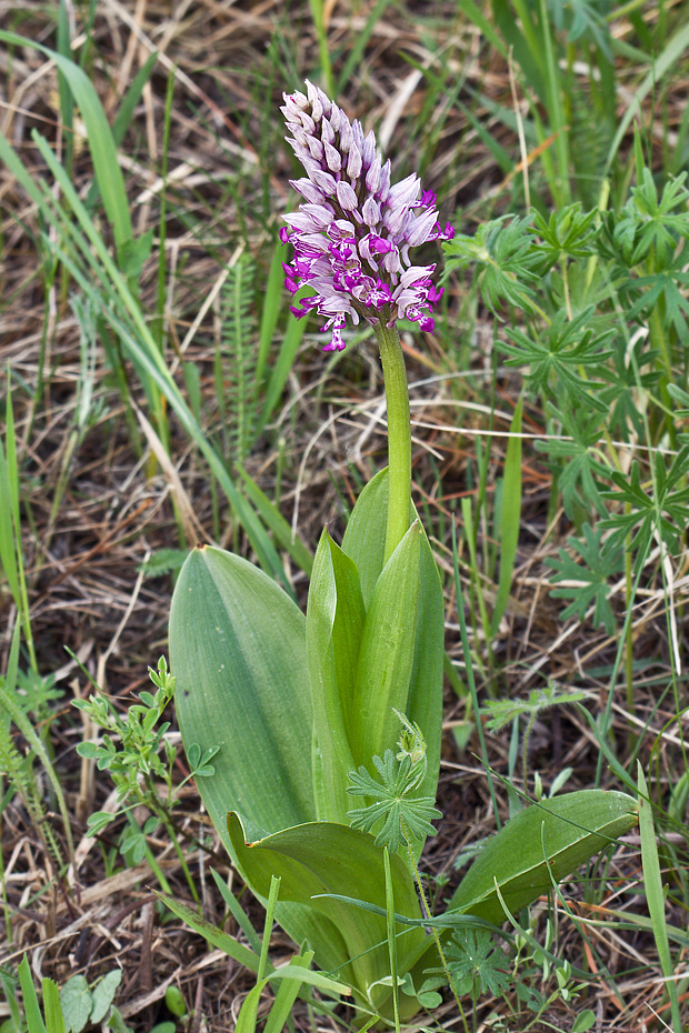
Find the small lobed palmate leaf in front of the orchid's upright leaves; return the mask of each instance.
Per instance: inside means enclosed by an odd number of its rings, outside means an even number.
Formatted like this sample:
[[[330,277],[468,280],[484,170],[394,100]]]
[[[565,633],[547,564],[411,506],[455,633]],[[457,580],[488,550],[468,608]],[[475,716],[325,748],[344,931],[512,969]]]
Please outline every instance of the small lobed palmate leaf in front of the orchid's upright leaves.
[[[397,760],[392,750],[386,750],[382,760],[373,758],[373,764],[382,783],[373,779],[363,766],[349,772],[351,784],[347,792],[352,796],[368,796],[376,801],[366,808],[347,812],[351,828],[372,832],[382,821],[382,828],[376,836],[376,846],[387,846],[391,854],[397,853],[402,845],[435,835],[431,821],[437,821],[442,814],[433,806],[433,798],[409,795],[419,783],[413,772],[412,758],[405,754],[401,760]]]

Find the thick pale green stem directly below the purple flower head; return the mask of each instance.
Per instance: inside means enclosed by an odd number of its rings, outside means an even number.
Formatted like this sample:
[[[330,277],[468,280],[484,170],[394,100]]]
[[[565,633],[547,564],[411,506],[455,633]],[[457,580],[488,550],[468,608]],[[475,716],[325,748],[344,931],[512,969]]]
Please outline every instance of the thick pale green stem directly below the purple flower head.
[[[376,325],[388,407],[389,495],[386,563],[409,530],[411,509],[411,427],[409,389],[399,333]]]

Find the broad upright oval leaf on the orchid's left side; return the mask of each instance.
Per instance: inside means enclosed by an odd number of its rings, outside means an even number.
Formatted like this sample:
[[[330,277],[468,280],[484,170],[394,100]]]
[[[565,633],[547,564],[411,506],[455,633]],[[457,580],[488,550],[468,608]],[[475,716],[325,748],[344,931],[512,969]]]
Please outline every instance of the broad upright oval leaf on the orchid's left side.
[[[170,661],[182,740],[219,746],[199,792],[229,849],[236,809],[252,838],[316,818],[304,619],[246,560],[198,549],[172,598]]]

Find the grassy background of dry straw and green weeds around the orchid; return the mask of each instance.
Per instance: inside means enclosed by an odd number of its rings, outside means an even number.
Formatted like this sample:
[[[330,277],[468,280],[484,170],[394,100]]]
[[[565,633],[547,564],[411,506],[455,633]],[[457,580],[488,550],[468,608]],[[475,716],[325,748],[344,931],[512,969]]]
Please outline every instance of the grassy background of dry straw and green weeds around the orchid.
[[[681,1033],[687,4],[0,10],[3,1030],[22,1021],[24,952],[36,976],[81,980],[79,1030],[232,1029],[256,983],[152,892],[260,951],[262,910],[187,781],[212,759],[177,750],[158,658],[191,545],[258,561],[303,603],[323,523],[340,538],[386,461],[371,334],[321,354],[282,289],[298,170],[278,107],[308,77],[458,232],[435,332],[403,333],[415,493],[447,605],[430,896],[517,790],[633,792],[640,762],[656,820],[646,882],[635,834],[525,916],[581,976],[529,944],[506,979],[460,956],[469,1012],[481,1029]],[[96,688],[99,709],[71,705]],[[270,941],[276,962],[291,951]],[[327,1020],[297,1002],[290,1021]],[[436,1022],[459,1022],[451,999]]]

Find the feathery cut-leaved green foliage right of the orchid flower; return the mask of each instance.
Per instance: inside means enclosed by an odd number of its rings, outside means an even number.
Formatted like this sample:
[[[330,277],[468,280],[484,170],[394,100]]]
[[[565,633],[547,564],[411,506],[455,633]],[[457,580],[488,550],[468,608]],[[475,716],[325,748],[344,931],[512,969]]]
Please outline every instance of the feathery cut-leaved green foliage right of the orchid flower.
[[[588,31],[585,21],[579,30]],[[657,181],[640,149],[636,158],[637,184],[619,210],[573,203],[527,221],[503,217],[443,245],[448,269],[473,268],[488,309],[521,310],[523,325],[499,331],[496,348],[508,368],[525,371],[547,414],[536,449],[577,532],[567,539],[576,561],[560,550],[548,562],[559,585],[552,594],[571,600],[565,618],[581,620],[592,608],[608,634],[623,556],[640,576],[653,535],[676,555],[689,520],[681,435],[676,449],[682,410],[671,408],[688,387],[689,190],[685,174]],[[639,439],[649,459],[637,452],[627,473],[618,443]],[[626,580],[627,611],[631,591]]]

